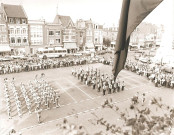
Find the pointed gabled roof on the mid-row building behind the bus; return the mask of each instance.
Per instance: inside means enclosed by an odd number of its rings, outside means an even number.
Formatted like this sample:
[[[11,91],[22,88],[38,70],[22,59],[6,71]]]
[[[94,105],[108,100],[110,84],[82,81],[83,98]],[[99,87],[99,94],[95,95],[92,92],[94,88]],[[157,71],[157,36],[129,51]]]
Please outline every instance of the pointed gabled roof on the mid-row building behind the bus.
[[[69,23],[72,23],[73,26],[74,26],[74,23],[71,20],[70,16],[56,15],[56,17],[54,18],[53,23],[62,24],[63,27],[67,27],[69,25]]]

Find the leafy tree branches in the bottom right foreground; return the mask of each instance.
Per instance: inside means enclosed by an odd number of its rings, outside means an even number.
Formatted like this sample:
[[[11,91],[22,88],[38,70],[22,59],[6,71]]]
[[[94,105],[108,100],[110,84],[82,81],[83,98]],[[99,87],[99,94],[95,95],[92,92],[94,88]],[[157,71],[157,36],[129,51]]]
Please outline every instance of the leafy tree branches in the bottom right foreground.
[[[145,97],[145,94],[143,94],[143,97]],[[123,121],[123,126],[117,126],[117,122],[111,124],[104,118],[99,118],[94,112],[95,119],[91,120],[91,124],[94,126],[101,125],[105,127],[106,131],[106,133],[99,131],[95,135],[170,135],[174,126],[174,108],[163,104],[161,98],[153,97],[150,100],[150,105],[147,106],[144,106],[137,98],[135,102],[135,98],[131,99],[130,107],[125,108],[124,112],[120,111],[121,109],[112,102],[112,99],[106,99],[102,107],[118,113],[120,120]],[[153,106],[153,109],[149,106]],[[63,132],[66,132],[67,135],[68,133],[71,135],[89,134],[87,130],[84,130],[85,127],[68,124],[67,120],[64,120],[63,124],[58,125],[58,127],[63,129]]]

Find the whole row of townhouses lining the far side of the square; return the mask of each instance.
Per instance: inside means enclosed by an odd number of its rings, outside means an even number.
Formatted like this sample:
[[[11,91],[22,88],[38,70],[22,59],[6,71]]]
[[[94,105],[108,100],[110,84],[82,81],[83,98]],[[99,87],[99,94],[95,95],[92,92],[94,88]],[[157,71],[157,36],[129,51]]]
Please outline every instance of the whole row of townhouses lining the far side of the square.
[[[150,44],[161,38],[154,25],[142,23],[131,34],[131,44]],[[102,50],[114,47],[118,27],[103,28],[91,19],[74,23],[70,16],[56,14],[53,22],[28,20],[21,5],[0,5],[0,54],[35,54],[44,48],[66,48],[68,53],[78,50]]]

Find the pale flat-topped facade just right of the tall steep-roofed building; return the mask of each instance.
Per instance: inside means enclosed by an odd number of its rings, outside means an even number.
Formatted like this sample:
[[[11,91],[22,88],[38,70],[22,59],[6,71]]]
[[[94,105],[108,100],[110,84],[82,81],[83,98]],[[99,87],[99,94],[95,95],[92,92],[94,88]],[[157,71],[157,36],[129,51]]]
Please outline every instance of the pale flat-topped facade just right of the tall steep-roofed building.
[[[29,20],[29,45],[30,53],[34,54],[40,48],[46,45],[45,36],[45,21],[44,20]]]

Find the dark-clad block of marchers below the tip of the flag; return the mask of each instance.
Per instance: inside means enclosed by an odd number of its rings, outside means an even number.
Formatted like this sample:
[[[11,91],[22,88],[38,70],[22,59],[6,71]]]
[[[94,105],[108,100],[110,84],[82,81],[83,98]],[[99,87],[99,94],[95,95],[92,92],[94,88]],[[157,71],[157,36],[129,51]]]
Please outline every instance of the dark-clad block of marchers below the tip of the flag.
[[[116,93],[125,89],[124,81],[120,82],[119,78],[114,80],[113,75],[100,73],[100,70],[87,67],[87,69],[73,68],[72,75],[81,80],[87,86],[92,86],[98,92],[102,91],[103,95]]]

